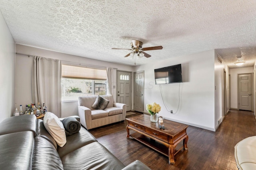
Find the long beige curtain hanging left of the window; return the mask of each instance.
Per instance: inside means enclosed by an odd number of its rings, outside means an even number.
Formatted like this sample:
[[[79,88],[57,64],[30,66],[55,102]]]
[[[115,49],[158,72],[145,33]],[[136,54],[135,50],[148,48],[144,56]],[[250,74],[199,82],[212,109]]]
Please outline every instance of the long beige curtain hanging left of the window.
[[[34,56],[32,73],[33,103],[61,117],[61,61]]]

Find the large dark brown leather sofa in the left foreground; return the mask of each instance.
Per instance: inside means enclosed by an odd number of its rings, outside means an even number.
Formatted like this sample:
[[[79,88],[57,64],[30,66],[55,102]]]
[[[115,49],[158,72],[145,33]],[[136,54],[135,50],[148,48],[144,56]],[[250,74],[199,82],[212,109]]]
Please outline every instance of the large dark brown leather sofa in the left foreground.
[[[64,147],[58,147],[35,115],[9,117],[0,123],[0,169],[149,169],[138,160],[124,166],[83,127],[66,139]]]

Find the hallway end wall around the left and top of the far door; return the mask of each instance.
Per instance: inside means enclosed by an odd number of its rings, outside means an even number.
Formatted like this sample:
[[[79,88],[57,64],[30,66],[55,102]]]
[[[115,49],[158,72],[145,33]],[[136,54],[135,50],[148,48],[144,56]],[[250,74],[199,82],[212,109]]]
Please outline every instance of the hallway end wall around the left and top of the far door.
[[[238,109],[238,74],[246,74],[252,73],[253,67],[245,67],[245,68],[232,68],[230,69],[230,90],[231,90],[231,100],[230,100],[230,108]]]

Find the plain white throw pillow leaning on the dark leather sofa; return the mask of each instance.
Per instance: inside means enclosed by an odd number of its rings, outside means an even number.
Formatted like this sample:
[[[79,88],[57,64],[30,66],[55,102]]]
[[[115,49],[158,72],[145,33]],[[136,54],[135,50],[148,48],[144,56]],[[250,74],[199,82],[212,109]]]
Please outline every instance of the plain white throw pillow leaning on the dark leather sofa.
[[[60,147],[66,144],[67,139],[64,125],[56,115],[46,112],[44,115],[44,127]]]

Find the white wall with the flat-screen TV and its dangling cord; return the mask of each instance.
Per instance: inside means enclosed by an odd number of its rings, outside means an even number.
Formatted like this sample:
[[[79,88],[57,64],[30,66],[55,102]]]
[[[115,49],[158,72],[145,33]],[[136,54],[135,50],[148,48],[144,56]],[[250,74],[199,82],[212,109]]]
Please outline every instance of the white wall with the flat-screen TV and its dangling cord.
[[[160,85],[154,84],[154,69],[182,64],[180,83],[162,84],[163,97],[169,109],[167,111],[160,94]],[[146,104],[156,102],[162,107],[159,116],[188,125],[215,131],[214,126],[214,50],[192,55],[174,57],[142,66],[135,71],[144,70],[144,111]]]

